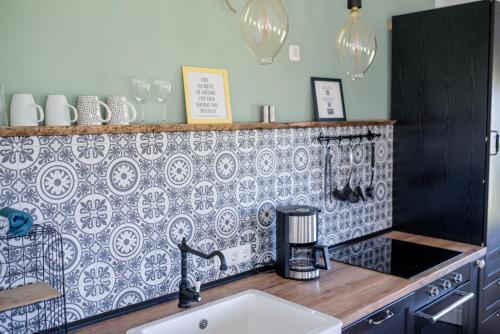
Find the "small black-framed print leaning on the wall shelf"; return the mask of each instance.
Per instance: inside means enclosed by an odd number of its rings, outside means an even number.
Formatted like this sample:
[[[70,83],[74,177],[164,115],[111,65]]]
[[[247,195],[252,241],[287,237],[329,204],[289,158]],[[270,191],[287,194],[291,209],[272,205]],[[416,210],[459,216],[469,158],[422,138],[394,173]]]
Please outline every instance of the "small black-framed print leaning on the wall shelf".
[[[342,80],[311,78],[314,110],[318,122],[345,121],[344,93]]]

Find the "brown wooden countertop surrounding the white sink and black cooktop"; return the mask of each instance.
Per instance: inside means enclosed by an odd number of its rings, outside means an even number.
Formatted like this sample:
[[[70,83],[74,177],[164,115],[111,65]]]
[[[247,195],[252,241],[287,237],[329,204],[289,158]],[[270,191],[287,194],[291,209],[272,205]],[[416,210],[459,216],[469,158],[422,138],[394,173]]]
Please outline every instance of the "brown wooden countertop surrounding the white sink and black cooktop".
[[[411,280],[335,261],[332,263],[332,269],[330,271],[321,271],[320,279],[315,281],[299,282],[283,279],[274,273],[259,274],[202,291],[203,303],[227,297],[247,289],[258,289],[332,315],[341,319],[344,326],[346,326],[486,254],[486,248],[480,246],[403,232],[389,232],[386,235],[395,239],[457,250],[464,253]],[[202,305],[203,303],[194,303],[194,305]],[[129,328],[178,312],[181,312],[181,310],[177,307],[177,300],[173,300],[126,316],[101,322],[74,331],[74,333],[125,333]]]

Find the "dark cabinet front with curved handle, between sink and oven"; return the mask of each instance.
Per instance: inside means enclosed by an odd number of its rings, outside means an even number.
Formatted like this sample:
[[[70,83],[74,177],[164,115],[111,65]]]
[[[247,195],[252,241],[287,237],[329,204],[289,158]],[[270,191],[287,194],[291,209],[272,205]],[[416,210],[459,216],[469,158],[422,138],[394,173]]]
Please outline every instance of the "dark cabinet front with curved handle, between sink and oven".
[[[415,295],[408,295],[342,330],[343,334],[413,333],[412,307]]]

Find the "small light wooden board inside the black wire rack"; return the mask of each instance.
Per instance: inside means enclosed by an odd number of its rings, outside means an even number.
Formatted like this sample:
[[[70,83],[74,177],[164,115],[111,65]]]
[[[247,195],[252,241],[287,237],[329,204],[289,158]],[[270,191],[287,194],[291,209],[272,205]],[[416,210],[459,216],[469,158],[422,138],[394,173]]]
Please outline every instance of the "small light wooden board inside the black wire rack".
[[[0,312],[57,297],[61,297],[59,291],[46,283],[27,284],[3,290],[0,291]]]

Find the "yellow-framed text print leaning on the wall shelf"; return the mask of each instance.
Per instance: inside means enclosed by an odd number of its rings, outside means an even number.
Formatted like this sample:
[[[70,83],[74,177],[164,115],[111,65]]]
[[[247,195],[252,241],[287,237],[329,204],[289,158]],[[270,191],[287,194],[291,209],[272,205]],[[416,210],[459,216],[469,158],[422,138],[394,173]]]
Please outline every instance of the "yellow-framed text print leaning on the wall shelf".
[[[182,67],[188,124],[232,123],[227,71]]]

